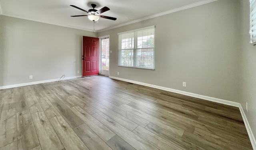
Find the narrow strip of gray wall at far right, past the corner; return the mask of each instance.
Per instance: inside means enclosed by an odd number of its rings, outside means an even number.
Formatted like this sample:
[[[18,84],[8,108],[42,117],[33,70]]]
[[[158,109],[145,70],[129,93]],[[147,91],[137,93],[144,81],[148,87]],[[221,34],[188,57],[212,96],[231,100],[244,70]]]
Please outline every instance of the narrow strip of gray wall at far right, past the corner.
[[[250,35],[250,8],[248,0],[240,0],[241,12],[241,99],[243,110],[246,114],[254,137],[256,137],[256,46],[249,44]],[[248,103],[248,112],[245,104]]]

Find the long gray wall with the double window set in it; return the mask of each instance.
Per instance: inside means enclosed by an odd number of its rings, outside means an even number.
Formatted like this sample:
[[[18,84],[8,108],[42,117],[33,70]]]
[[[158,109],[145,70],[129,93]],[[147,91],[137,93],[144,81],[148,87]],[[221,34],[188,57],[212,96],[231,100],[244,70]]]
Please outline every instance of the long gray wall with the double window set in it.
[[[110,76],[239,102],[238,8],[219,0],[98,33],[110,35]],[[118,67],[118,32],[152,25],[156,70]]]

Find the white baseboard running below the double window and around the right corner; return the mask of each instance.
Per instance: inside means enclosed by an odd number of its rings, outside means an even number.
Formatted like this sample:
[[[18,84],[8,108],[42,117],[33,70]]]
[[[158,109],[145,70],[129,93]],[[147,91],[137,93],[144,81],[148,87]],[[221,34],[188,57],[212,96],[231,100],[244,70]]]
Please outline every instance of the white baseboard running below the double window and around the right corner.
[[[242,118],[244,120],[244,124],[245,124],[246,130],[248,132],[250,141],[252,143],[252,148],[253,148],[253,150],[256,150],[256,141],[255,141],[254,135],[252,133],[252,130],[250,128],[248,120],[247,120],[247,118],[246,118],[246,116],[244,114],[244,110],[243,110],[241,104],[238,103],[238,102],[231,102],[231,101],[228,101],[228,100],[222,100],[222,99],[219,99],[219,98],[213,98],[213,97],[199,95],[199,94],[194,94],[194,93],[190,93],[190,92],[184,92],[184,91],[175,90],[175,89],[172,89],[172,88],[156,86],[156,85],[153,85],[153,84],[147,84],[147,83],[143,83],[143,82],[127,80],[127,79],[124,79],[124,78],[118,78],[118,77],[114,77],[114,76],[109,76],[109,78],[116,79],[116,80],[122,80],[122,81],[125,81],[125,82],[134,83],[134,84],[140,84],[140,85],[143,85],[143,86],[157,88],[157,89],[160,89],[160,90],[165,90],[165,91],[169,91],[169,92],[174,92],[174,93],[178,93],[178,94],[192,96],[192,97],[195,97],[195,98],[201,98],[201,99],[204,99],[204,100],[209,100],[209,101],[212,101],[212,102],[218,102],[218,103],[221,103],[221,104],[226,104],[226,105],[238,107],[240,112],[241,112]]]

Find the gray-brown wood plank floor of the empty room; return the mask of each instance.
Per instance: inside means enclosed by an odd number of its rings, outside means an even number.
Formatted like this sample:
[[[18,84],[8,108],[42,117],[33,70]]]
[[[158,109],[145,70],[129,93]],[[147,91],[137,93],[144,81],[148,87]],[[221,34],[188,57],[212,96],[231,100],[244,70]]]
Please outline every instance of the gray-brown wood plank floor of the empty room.
[[[0,90],[0,150],[252,150],[239,109],[90,76]]]

